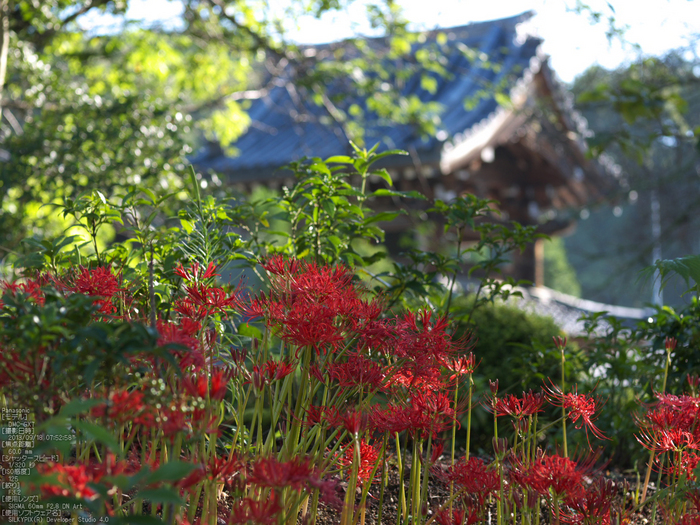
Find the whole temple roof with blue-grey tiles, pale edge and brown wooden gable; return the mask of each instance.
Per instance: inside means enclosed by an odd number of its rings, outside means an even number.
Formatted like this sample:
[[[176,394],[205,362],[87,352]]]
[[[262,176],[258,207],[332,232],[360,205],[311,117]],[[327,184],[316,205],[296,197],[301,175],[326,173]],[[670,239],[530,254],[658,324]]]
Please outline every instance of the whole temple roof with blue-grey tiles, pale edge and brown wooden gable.
[[[423,33],[412,52],[439,43],[449,74],[419,71],[401,94],[439,104],[440,128],[426,136],[405,124],[368,125],[367,144],[380,142],[382,149],[411,152],[384,159],[383,167],[401,177],[402,170],[428,166],[428,176],[450,175],[457,193],[495,195],[504,205],[515,198],[512,206],[521,212],[510,216],[524,222],[530,217],[542,223],[546,214],[553,218],[548,210],[582,207],[602,197],[611,186],[610,170],[586,157],[585,121],[549,69],[541,39],[523,30],[533,15]],[[386,45],[385,39],[367,43]],[[309,49],[316,52],[324,46]],[[421,82],[425,75],[435,80],[430,91]],[[326,110],[299,94],[293,83],[277,82],[252,103],[251,126],[234,144],[240,155],[226,155],[218,144],[209,143],[192,158],[193,164],[223,174],[229,184],[271,182],[288,177],[280,168],[302,157],[349,154],[347,138],[328,123]],[[357,96],[345,102],[350,103],[364,104]]]

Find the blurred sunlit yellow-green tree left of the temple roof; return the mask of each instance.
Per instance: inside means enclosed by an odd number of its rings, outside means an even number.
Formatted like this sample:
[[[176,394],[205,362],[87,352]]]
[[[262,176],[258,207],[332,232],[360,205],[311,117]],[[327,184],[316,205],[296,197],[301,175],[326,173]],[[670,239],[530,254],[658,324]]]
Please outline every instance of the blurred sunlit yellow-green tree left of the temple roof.
[[[247,101],[275,83],[322,107],[359,142],[369,113],[342,109],[347,94],[374,93],[372,118],[434,131],[435,108],[399,90],[418,64],[442,65],[429,51],[410,56],[418,36],[393,0],[368,6],[386,35],[381,49],[362,39],[317,50],[290,44],[284,20],[252,1],[183,4],[178,21],[145,26],[125,20],[128,0],[0,0],[0,246],[10,250],[44,228],[51,207],[42,205],[87,188],[109,197],[129,184],[181,187],[193,123],[227,146],[250,124]],[[346,4],[289,0],[283,16]],[[90,12],[117,24],[84,30]],[[389,64],[399,62],[397,82],[387,83]],[[298,118],[310,116],[300,109]]]

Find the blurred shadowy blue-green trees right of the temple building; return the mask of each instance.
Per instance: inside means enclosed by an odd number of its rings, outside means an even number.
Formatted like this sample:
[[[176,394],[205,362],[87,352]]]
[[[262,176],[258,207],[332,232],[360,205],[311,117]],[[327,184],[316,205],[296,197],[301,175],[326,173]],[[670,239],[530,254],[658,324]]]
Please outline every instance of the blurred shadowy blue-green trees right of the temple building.
[[[654,259],[700,249],[700,60],[682,51],[627,68],[588,70],[573,86],[577,108],[620,168],[620,192],[566,239],[583,296],[642,306],[650,287],[635,286]],[[584,217],[588,211],[584,212]],[[679,290],[665,290],[678,304]]]

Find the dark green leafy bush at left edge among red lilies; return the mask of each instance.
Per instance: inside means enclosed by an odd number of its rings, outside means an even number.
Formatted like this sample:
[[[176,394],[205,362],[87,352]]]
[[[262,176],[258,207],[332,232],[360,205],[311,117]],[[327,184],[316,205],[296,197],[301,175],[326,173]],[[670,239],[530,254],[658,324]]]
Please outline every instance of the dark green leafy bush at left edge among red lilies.
[[[95,385],[119,382],[120,368],[129,358],[154,350],[157,335],[140,324],[94,322],[94,299],[82,294],[65,297],[47,290],[45,304],[25,294],[6,293],[0,340],[3,347],[21,349],[21,356],[7,350],[6,359],[43,362],[29,372],[31,379],[10,395],[31,407],[39,421],[56,413],[59,406],[79,397]],[[160,354],[162,355],[162,354]],[[42,385],[37,393],[36,385]]]

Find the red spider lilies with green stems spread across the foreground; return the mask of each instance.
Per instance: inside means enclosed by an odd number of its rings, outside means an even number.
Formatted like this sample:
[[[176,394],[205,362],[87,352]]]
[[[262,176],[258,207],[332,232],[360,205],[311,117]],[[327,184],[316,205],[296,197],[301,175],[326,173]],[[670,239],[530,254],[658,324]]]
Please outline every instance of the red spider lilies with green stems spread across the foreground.
[[[624,515],[614,503],[618,487],[596,479],[597,456],[542,448],[538,418],[552,407],[563,407],[587,438],[605,439],[594,424],[599,399],[553,383],[499,397],[496,380],[482,404],[496,432],[499,419],[513,422],[511,445],[496,435],[493,454],[470,457],[467,442],[464,458],[453,453],[448,463],[442,440],[450,431],[454,440],[473,405],[471,341],[453,338],[449,319],[430,309],[391,314],[347,267],[275,256],[262,268],[269,291],[249,298],[240,286],[217,284],[212,262],[178,266],[167,312],[154,323],[158,351],[129,355],[114,365],[114,380],[76,383],[72,395],[87,408],[63,424],[74,424],[78,444],[39,469],[35,490],[91,509],[101,502],[106,514],[147,512],[177,523],[311,522],[327,505],[352,525],[364,519],[368,497],[381,501],[396,465],[410,479],[399,513],[416,524],[433,519],[429,504],[439,524],[482,523],[494,507],[534,523],[541,502],[555,521],[613,523]],[[92,298],[91,322],[146,321],[144,305],[109,267],[4,288],[42,306],[48,286]],[[261,336],[226,331],[240,321]],[[0,388],[51,390],[50,360],[44,348],[3,349]],[[671,476],[690,477],[699,462],[696,401],[659,394],[640,417],[639,441],[676,454],[658,463]],[[431,476],[450,488],[437,504],[428,497]]]

